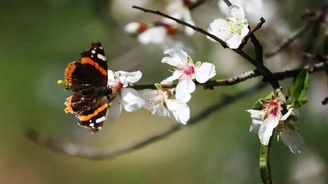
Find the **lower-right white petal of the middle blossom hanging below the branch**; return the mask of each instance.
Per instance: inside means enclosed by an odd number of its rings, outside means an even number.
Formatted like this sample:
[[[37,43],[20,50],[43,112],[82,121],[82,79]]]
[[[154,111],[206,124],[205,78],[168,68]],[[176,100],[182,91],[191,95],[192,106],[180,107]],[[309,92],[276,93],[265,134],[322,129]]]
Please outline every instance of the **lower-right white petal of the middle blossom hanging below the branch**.
[[[165,100],[167,108],[174,115],[175,120],[178,123],[182,123],[186,125],[187,121],[190,118],[190,109],[186,103],[182,103],[178,100],[174,99],[166,99]]]

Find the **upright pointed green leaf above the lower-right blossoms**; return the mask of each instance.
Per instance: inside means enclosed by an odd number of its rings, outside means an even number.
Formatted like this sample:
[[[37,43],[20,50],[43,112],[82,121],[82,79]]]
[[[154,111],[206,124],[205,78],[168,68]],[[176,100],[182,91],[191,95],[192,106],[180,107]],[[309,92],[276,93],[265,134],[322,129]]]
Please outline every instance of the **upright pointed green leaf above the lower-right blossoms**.
[[[307,70],[302,70],[302,72],[297,76],[297,79],[292,86],[292,94],[296,101],[304,96],[309,86],[309,72]]]

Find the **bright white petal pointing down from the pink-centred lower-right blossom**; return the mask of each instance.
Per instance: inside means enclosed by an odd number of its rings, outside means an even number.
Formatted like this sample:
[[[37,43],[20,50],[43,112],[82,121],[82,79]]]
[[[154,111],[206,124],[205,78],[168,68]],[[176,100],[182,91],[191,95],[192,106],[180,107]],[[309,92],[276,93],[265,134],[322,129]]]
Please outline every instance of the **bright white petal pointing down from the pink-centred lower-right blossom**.
[[[258,137],[262,144],[268,145],[269,139],[272,136],[273,129],[277,127],[279,120],[276,117],[269,116],[266,120],[264,120],[258,131]]]

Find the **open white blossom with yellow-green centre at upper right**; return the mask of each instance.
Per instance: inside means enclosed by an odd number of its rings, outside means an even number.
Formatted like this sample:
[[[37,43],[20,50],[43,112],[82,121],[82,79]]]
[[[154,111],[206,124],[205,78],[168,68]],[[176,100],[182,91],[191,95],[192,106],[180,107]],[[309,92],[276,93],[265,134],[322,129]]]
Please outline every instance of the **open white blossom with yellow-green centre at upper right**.
[[[227,18],[215,19],[208,28],[208,32],[227,42],[231,49],[239,47],[242,39],[248,34],[248,21],[245,19],[244,8],[236,5],[229,7]],[[211,37],[207,36],[213,42]]]

